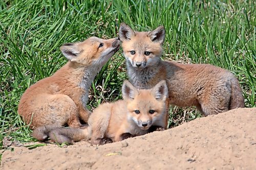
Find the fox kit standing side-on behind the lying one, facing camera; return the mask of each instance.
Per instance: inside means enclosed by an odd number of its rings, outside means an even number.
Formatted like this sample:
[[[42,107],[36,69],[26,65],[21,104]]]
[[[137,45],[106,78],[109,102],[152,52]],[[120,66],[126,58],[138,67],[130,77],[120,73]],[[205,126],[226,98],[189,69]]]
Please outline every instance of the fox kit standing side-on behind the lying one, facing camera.
[[[150,32],[133,31],[121,23],[119,37],[131,83],[141,89],[166,80],[169,103],[196,106],[205,116],[244,107],[241,86],[228,70],[208,64],[162,61],[164,27]]]

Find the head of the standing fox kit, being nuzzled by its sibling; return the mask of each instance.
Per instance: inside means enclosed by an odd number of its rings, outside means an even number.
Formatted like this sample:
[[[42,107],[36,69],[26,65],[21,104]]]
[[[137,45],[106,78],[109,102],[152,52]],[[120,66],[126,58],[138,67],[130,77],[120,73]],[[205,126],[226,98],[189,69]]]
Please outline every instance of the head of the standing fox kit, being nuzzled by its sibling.
[[[150,32],[136,32],[121,23],[119,37],[127,65],[143,69],[160,61],[165,37],[163,26]]]

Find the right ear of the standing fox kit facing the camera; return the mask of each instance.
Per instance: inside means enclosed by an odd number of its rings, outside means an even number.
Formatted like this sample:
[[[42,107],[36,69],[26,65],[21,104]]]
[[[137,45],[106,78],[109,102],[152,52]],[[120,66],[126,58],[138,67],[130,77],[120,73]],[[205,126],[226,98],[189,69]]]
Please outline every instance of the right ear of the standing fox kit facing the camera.
[[[150,37],[150,39],[153,42],[159,42],[162,45],[163,42],[164,42],[164,38],[165,38],[164,27],[163,26],[159,26],[155,30],[153,30],[150,33],[148,33],[147,36]]]

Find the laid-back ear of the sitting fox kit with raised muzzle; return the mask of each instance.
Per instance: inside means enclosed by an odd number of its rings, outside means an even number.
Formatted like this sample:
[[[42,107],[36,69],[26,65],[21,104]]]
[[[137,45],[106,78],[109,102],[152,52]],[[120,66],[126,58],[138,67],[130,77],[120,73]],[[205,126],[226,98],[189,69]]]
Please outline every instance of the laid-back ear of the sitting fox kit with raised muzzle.
[[[69,60],[74,61],[80,51],[78,49],[77,43],[66,43],[60,47],[61,53]]]

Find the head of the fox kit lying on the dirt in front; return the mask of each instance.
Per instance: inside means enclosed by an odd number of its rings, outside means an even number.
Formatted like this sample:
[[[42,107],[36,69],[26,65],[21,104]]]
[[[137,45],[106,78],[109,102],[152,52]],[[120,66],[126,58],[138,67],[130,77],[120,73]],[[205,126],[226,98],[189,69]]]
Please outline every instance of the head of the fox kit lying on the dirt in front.
[[[164,115],[168,88],[165,80],[152,89],[141,90],[124,81],[122,95],[127,103],[128,118],[140,129],[147,130]]]

